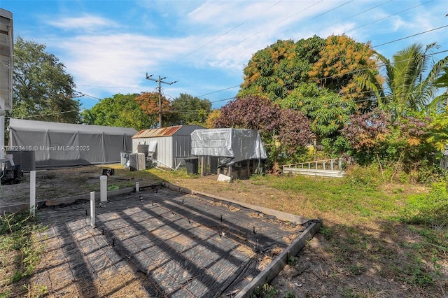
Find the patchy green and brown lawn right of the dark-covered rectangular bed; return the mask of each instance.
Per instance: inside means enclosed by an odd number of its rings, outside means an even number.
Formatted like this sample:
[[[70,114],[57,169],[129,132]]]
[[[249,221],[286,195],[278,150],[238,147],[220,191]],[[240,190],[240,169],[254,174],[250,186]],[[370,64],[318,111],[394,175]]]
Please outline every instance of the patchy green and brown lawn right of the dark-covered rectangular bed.
[[[421,213],[430,214],[424,205],[434,197],[424,185],[270,175],[209,185],[205,178],[188,177],[183,171],[156,174],[190,189],[321,218],[325,243],[316,253],[325,256],[328,271],[322,278],[337,284],[339,297],[448,295],[448,197],[440,197],[446,185],[435,196],[442,204],[434,211],[440,213],[438,220],[424,222]],[[273,297],[288,293],[277,291]]]

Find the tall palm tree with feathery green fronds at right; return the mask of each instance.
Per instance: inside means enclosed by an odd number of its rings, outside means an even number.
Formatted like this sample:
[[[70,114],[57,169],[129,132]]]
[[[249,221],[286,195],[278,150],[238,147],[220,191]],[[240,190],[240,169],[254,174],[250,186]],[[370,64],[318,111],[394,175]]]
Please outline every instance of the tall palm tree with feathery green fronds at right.
[[[448,65],[448,56],[434,61],[433,50],[439,47],[431,43],[423,50],[414,43],[396,52],[392,61],[376,53],[385,70],[384,83],[373,76],[364,76],[360,83],[377,94],[379,108],[391,111],[395,120],[412,112],[433,112],[446,105],[446,97],[437,97],[440,85],[435,83]]]

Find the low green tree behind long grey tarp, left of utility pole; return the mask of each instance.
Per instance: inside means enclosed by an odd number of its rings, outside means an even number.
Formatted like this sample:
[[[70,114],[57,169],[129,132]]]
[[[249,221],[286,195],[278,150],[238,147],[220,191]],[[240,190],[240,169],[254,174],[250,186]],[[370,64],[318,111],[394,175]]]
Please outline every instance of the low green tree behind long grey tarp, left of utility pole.
[[[91,109],[81,112],[83,123],[113,127],[132,127],[147,129],[153,125],[148,115],[135,101],[136,94],[115,94],[99,101]]]

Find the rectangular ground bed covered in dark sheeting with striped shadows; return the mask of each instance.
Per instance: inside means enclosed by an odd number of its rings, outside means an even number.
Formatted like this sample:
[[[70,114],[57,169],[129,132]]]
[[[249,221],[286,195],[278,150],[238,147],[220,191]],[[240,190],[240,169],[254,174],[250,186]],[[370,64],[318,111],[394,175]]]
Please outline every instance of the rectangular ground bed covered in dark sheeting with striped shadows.
[[[96,227],[87,200],[38,209],[48,229],[31,283],[57,297],[249,297],[320,227],[167,186],[98,201]]]

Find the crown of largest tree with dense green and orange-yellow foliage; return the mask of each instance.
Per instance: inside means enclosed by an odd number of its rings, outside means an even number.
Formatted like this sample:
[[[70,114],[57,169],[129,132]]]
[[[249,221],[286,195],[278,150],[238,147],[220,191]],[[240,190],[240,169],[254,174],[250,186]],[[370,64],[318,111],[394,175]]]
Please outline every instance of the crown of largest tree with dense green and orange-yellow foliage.
[[[369,43],[358,43],[345,35],[326,39],[313,36],[296,43],[277,41],[256,52],[248,62],[239,97],[259,94],[277,101],[300,84],[315,82],[370,111],[374,94],[358,83],[358,78],[379,79],[373,55]]]

